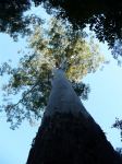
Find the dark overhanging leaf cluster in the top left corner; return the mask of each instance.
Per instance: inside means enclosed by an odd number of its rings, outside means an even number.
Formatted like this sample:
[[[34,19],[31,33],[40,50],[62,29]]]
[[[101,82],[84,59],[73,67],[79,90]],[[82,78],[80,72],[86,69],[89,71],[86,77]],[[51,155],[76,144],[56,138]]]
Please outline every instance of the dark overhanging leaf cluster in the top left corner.
[[[29,25],[42,23],[35,14],[24,15],[29,10],[29,0],[1,0],[0,1],[0,32],[10,34],[14,39],[32,33]]]

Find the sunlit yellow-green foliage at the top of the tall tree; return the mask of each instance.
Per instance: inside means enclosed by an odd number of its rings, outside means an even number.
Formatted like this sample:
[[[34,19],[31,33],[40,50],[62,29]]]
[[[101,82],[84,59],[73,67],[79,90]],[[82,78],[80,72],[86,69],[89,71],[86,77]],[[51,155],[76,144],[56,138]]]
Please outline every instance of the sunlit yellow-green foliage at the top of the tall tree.
[[[95,72],[105,60],[93,37],[86,43],[84,36],[85,32],[73,31],[72,25],[52,19],[48,30],[37,26],[29,42],[38,54],[38,62],[48,62],[52,68],[56,62],[60,67],[65,59],[68,78],[78,81],[87,73]]]

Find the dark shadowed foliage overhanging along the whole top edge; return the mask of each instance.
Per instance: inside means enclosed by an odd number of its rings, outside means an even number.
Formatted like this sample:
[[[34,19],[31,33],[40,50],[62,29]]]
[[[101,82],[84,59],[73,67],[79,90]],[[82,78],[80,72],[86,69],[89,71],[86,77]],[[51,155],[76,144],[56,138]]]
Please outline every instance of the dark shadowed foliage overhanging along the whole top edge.
[[[0,3],[0,31],[10,34],[25,33],[32,19],[25,17],[23,13],[32,4],[42,4],[48,13],[69,20],[74,27],[84,28],[89,24],[97,38],[107,40],[110,47],[122,38],[121,0],[3,0]]]

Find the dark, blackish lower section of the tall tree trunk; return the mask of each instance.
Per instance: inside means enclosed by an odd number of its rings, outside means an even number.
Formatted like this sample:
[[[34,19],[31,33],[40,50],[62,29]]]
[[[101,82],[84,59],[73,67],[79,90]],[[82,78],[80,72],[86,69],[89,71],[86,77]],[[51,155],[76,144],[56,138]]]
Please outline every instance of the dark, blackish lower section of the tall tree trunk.
[[[27,164],[121,164],[121,161],[94,119],[56,113],[44,119]]]

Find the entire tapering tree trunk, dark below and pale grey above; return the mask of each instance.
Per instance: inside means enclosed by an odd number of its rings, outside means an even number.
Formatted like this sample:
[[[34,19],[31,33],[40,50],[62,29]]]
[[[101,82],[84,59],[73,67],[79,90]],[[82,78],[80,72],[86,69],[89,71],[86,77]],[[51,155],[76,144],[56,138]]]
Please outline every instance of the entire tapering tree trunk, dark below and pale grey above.
[[[48,106],[27,164],[121,164],[64,72],[57,69]]]

